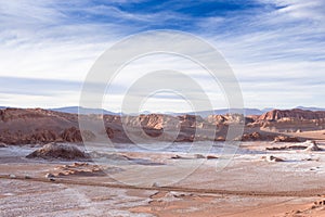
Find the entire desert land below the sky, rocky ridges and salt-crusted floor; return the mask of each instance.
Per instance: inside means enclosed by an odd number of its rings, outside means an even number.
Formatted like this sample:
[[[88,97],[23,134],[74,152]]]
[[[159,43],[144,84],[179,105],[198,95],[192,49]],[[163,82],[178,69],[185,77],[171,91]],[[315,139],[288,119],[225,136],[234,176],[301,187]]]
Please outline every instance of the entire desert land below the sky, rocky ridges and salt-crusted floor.
[[[104,130],[80,129],[80,117],[102,119]],[[233,125],[243,133],[229,140]],[[325,216],[322,111],[78,117],[2,108],[0,142],[0,216]]]

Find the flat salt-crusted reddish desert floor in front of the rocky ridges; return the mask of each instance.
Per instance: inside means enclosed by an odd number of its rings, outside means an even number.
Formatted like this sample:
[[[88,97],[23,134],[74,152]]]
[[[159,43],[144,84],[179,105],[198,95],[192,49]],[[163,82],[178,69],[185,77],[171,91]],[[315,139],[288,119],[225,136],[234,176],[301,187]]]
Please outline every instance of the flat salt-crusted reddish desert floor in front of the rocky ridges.
[[[291,144],[243,142],[235,154],[121,150],[87,163],[1,148],[0,216],[325,216],[325,151],[265,151],[276,145]]]

